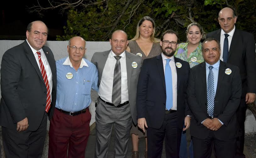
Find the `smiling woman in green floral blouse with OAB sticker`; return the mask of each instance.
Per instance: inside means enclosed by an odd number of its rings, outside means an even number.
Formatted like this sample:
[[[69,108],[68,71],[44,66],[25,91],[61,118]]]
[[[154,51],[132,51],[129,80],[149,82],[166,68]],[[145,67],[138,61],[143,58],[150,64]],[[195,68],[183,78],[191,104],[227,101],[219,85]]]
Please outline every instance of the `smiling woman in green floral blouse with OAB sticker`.
[[[188,42],[180,43],[174,56],[187,61],[192,68],[204,61],[200,43],[203,37],[203,28],[198,23],[191,23],[187,26],[186,34]]]

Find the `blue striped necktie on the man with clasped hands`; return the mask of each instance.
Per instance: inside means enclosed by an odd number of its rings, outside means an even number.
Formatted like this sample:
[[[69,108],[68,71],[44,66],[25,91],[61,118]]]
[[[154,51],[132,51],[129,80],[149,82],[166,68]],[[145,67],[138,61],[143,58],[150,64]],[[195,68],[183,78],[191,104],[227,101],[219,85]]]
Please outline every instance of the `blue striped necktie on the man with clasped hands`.
[[[209,75],[207,80],[207,113],[209,116],[213,116],[214,112],[214,76],[213,76],[213,66],[209,66]]]

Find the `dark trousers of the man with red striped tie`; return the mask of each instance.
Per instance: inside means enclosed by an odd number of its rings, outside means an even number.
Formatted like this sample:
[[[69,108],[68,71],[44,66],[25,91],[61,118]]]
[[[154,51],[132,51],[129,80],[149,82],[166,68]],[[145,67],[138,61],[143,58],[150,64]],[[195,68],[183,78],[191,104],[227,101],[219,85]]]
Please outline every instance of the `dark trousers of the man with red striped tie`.
[[[28,120],[29,123],[29,120]],[[47,127],[47,113],[36,131],[21,131],[2,127],[6,158],[41,158]]]

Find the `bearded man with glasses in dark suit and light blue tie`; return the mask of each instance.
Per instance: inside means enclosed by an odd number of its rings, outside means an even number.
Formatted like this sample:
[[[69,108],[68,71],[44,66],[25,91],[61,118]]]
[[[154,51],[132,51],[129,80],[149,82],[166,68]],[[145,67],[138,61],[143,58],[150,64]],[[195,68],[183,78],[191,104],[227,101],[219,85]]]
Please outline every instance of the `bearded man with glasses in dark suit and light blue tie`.
[[[186,101],[189,63],[174,57],[178,36],[162,34],[159,56],[145,59],[137,86],[138,126],[147,128],[148,158],[161,158],[165,138],[166,157],[179,157],[181,131],[190,125]],[[185,118],[185,121],[184,121]]]

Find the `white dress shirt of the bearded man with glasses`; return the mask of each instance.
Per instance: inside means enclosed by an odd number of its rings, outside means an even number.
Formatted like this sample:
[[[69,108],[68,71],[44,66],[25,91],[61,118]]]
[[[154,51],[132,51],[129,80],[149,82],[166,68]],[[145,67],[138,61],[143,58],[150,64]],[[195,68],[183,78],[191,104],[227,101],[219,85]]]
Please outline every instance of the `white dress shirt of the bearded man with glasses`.
[[[168,59],[167,57],[164,56],[162,53],[162,58],[163,58],[163,65],[164,65],[164,74],[165,74],[165,65],[166,65],[166,60]],[[177,71],[176,71],[176,66],[175,66],[175,61],[174,61],[174,56],[170,57],[171,61],[169,62],[169,65],[171,67],[171,74],[172,74],[172,98],[173,98],[173,104],[171,110],[177,110]]]

